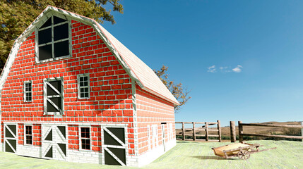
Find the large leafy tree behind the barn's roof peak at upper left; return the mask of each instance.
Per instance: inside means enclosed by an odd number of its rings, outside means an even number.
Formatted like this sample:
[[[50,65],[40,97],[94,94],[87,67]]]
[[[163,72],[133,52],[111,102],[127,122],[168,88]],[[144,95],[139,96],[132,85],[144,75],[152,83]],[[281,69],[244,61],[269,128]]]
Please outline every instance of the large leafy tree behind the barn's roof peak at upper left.
[[[48,5],[95,19],[98,23],[115,23],[112,11],[123,13],[120,0],[1,0],[0,1],[0,72],[4,68],[11,46],[16,38],[42,13]]]

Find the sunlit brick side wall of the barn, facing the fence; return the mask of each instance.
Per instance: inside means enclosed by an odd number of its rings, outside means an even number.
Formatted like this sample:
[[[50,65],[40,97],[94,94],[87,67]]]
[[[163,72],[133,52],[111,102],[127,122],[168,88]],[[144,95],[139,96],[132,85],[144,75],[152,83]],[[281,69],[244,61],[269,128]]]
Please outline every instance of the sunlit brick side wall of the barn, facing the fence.
[[[148,151],[148,128],[150,125],[150,142],[152,138],[152,125],[158,125],[158,145],[162,144],[161,123],[165,125],[166,142],[169,141],[169,123],[174,131],[174,105],[160,97],[145,92],[136,85],[136,108],[138,116],[138,146],[139,154]],[[174,133],[174,132],[173,132]],[[175,134],[173,134],[175,139]],[[150,145],[151,149],[154,148]]]

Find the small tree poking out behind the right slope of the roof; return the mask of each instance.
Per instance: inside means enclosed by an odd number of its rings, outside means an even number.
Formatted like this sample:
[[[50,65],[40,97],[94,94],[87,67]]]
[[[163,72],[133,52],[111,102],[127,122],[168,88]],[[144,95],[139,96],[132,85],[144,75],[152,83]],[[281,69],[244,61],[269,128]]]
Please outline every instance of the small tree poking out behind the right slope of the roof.
[[[183,87],[182,83],[175,84],[173,80],[169,80],[167,74],[168,67],[165,65],[162,65],[162,68],[158,71],[153,70],[155,74],[160,78],[160,80],[165,84],[167,89],[170,90],[172,95],[179,101],[179,106],[174,106],[174,111],[177,113],[181,109],[181,106],[186,104],[189,99],[191,99],[191,96],[188,96],[189,92],[187,91],[187,87]]]

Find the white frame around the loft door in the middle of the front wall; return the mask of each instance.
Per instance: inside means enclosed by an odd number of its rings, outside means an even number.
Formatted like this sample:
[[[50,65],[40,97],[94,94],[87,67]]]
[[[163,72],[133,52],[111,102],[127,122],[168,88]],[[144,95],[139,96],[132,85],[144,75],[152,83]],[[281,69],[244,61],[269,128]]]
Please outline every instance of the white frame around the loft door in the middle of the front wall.
[[[44,99],[43,115],[57,115],[57,116],[64,115],[64,80],[63,79],[64,79],[63,77],[51,77],[43,80],[43,99]],[[57,80],[61,80],[61,94],[59,95],[61,96],[62,99],[61,111],[47,113],[47,82],[52,82]]]

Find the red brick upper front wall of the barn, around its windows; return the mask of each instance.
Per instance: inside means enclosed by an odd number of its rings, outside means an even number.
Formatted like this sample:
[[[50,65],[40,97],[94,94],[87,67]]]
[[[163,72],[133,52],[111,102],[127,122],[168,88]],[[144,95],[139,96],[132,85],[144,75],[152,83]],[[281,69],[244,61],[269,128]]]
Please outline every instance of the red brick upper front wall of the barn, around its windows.
[[[72,48],[71,58],[35,63],[35,32],[23,42],[1,92],[2,123],[114,122],[133,127],[131,78],[93,27],[72,20]],[[77,75],[83,73],[90,74],[90,99],[77,98]],[[62,118],[43,115],[43,79],[49,77],[64,77]],[[23,101],[27,80],[32,80],[30,103]]]

